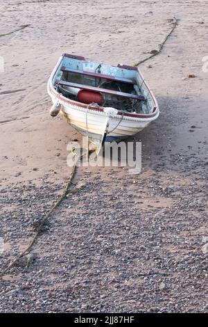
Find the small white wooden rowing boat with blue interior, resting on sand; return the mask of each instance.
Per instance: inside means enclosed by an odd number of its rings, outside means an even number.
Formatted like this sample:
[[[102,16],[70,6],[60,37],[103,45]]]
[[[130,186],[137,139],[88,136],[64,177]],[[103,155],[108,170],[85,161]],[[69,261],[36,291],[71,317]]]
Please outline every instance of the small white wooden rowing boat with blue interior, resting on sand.
[[[49,78],[53,106],[94,145],[137,134],[159,115],[157,100],[137,67],[110,66],[62,54]]]

